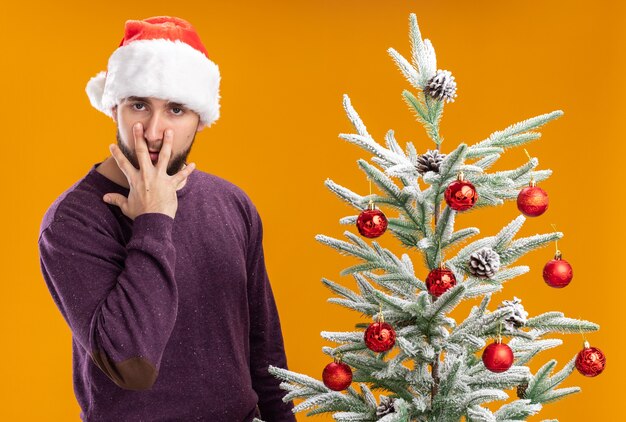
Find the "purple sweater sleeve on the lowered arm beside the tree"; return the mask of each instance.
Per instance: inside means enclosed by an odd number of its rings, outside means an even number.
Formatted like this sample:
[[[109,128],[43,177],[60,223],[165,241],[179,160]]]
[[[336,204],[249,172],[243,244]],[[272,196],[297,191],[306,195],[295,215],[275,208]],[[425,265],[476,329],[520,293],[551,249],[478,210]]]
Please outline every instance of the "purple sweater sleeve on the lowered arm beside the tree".
[[[268,372],[268,366],[287,368],[280,319],[265,268],[263,225],[252,207],[248,245],[248,301],[250,312],[250,371],[252,387],[259,396],[261,419],[266,422],[295,422],[293,402],[284,403],[287,393],[280,380]]]

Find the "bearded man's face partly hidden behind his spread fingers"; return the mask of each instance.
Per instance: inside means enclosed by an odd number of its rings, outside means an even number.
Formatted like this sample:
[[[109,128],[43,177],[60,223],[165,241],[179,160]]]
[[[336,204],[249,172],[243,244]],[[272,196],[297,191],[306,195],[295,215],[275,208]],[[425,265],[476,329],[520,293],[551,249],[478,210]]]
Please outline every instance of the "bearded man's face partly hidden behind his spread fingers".
[[[178,173],[191,152],[196,133],[204,128],[200,117],[179,103],[152,97],[128,97],[113,109],[113,120],[117,123],[117,145],[132,165],[139,169],[135,152],[133,125],[143,124],[143,136],[148,151],[158,152],[163,146],[166,129],[174,131],[172,154],[167,165],[167,174]],[[156,165],[158,157],[152,159]]]

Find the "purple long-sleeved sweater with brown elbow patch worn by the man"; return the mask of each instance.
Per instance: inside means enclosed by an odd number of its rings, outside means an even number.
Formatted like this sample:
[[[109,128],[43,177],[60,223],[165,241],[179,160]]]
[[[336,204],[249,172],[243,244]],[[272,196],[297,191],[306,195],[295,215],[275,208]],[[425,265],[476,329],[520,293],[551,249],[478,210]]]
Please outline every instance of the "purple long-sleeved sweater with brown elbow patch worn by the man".
[[[133,221],[102,200],[129,190],[98,164],[48,208],[39,235],[44,280],[72,331],[81,419],[295,421],[267,371],[287,359],[250,198],[196,169],[175,219]]]

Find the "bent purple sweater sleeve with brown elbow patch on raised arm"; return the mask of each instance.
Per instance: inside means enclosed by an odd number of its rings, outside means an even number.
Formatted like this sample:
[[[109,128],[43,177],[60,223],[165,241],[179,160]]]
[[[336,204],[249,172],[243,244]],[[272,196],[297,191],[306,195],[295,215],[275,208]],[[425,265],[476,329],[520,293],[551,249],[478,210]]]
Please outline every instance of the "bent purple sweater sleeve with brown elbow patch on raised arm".
[[[74,339],[119,387],[150,389],[174,328],[174,219],[137,216],[126,245],[72,217],[39,237],[40,264]]]

